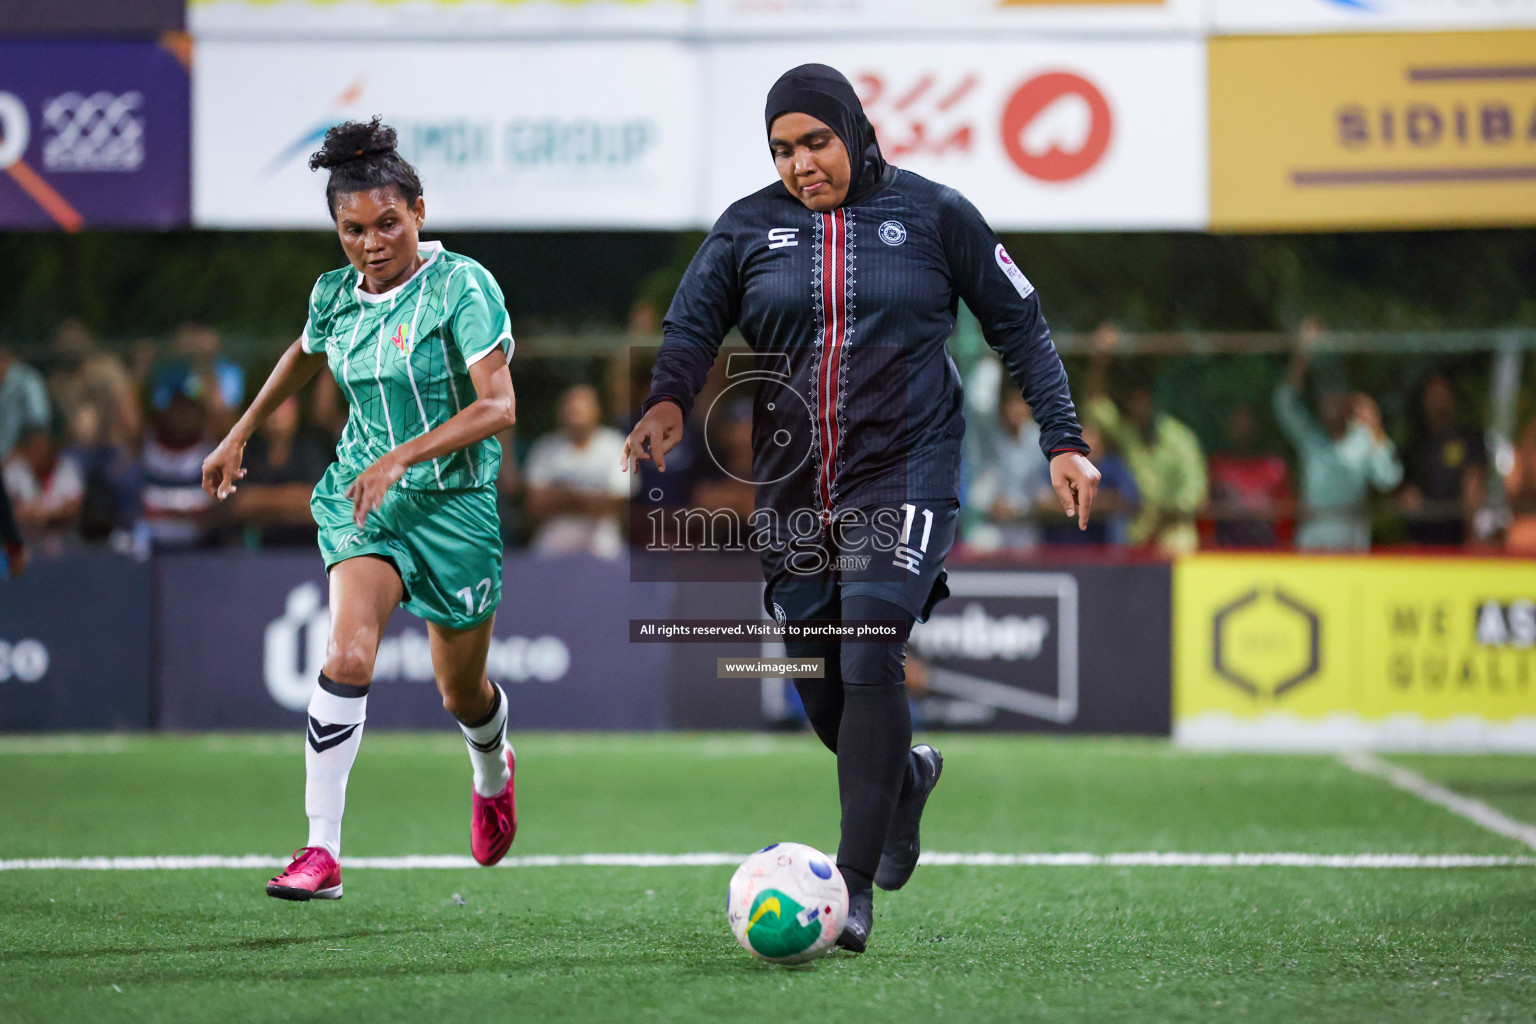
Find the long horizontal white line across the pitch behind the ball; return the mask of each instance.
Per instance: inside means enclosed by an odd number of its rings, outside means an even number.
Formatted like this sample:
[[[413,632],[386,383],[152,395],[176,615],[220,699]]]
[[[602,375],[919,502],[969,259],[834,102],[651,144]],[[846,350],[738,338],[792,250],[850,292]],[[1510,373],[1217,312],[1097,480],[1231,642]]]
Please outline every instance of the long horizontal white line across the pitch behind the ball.
[[[579,854],[570,857],[508,857],[501,867],[733,867],[743,854]],[[931,867],[1536,867],[1536,857],[1470,854],[923,854]],[[34,857],[0,860],[0,870],[190,870],[207,867],[284,867],[281,857]],[[473,869],[473,858],[349,857],[344,867],[412,870]]]

